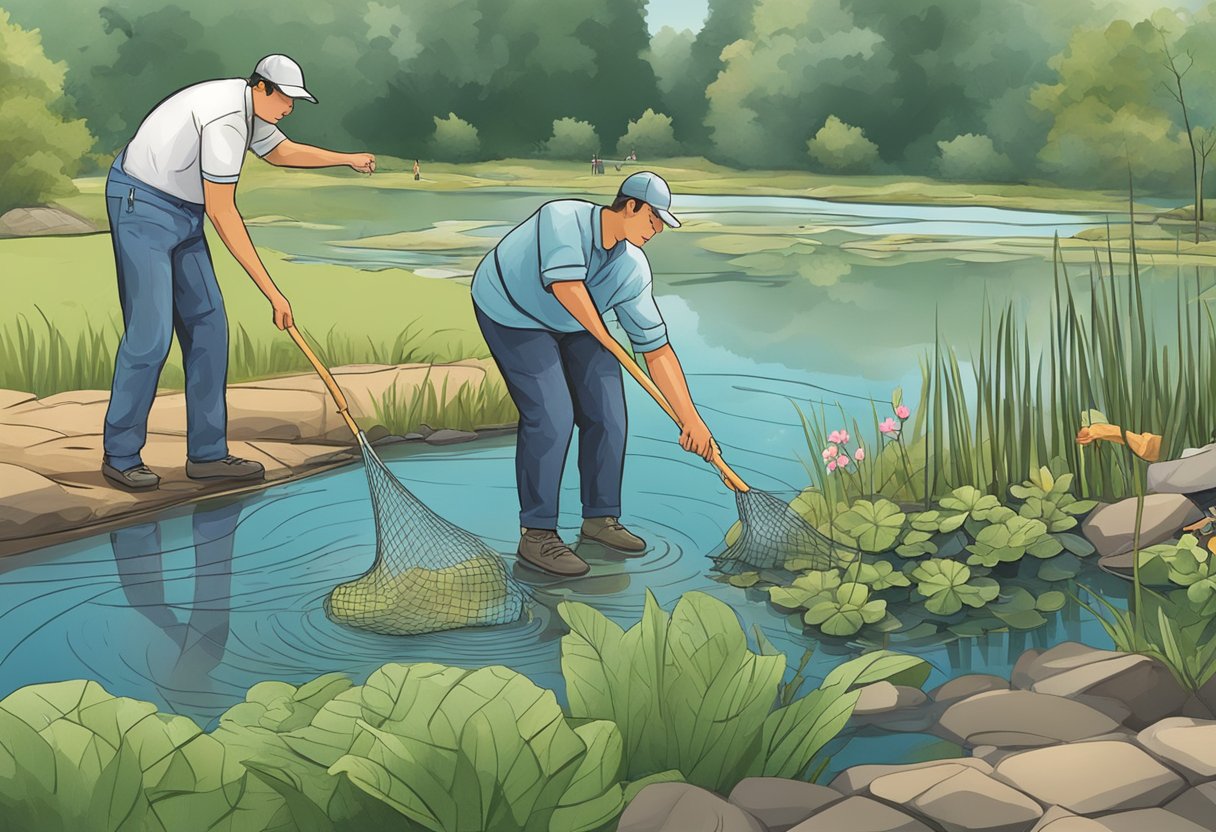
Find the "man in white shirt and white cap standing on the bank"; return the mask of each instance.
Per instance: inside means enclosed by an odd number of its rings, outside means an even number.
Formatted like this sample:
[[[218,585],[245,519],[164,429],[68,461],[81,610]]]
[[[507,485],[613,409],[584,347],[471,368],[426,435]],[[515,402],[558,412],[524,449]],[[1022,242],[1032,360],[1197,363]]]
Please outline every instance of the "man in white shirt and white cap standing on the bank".
[[[277,127],[295,101],[316,103],[286,55],[268,55],[248,79],[203,81],[148,113],[114,159],[106,209],[118,269],[123,339],[103,434],[102,474],[130,490],[156,488],[143,465],[148,410],[176,331],[186,373],[186,476],[257,479],[260,463],[227,452],[227,317],[203,236],[203,215],[270,300],[275,326],[292,307],[258,257],[236,207],[246,151],[291,168],[376,170],[371,153],[299,145]]]

